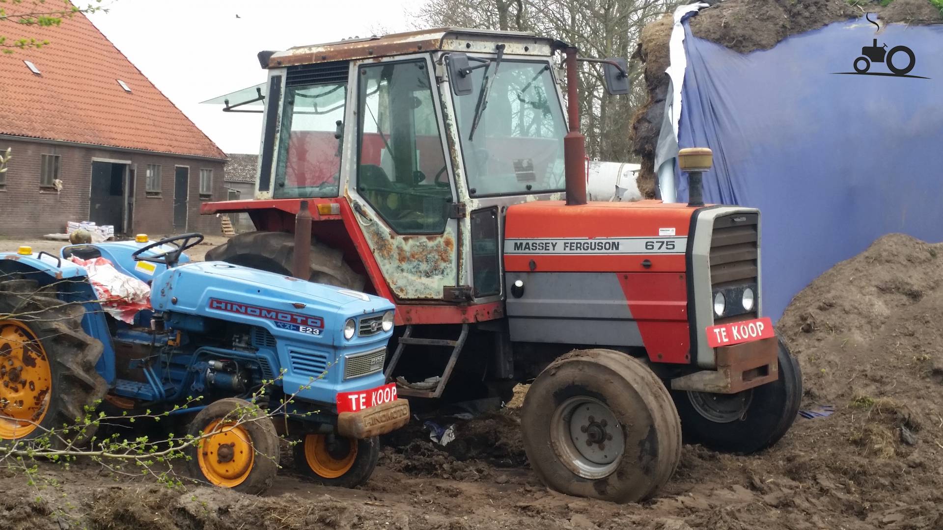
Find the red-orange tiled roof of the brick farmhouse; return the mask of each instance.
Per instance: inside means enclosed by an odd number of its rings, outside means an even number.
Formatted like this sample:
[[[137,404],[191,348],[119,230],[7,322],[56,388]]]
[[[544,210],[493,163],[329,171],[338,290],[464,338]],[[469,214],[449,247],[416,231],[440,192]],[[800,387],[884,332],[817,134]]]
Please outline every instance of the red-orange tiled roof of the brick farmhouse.
[[[52,27],[3,21],[0,35],[50,42],[0,55],[0,134],[226,157],[85,15]]]

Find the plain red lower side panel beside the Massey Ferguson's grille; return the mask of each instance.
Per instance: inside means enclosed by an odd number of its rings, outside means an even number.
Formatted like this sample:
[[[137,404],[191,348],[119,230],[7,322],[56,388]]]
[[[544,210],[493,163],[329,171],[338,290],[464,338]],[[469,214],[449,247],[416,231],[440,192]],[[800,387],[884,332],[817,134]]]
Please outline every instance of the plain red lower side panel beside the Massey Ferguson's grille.
[[[653,362],[690,362],[683,273],[617,273],[642,343]]]

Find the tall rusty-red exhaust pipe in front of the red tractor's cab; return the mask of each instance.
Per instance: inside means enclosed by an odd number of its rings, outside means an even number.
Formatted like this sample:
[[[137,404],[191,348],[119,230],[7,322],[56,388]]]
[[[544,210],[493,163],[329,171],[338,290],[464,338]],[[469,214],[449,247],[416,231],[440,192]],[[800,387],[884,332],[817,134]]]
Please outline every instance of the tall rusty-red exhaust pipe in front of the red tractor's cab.
[[[576,48],[564,51],[567,65],[567,122],[569,132],[563,137],[563,159],[566,174],[567,206],[587,204],[586,137],[580,133],[580,101],[576,91]]]

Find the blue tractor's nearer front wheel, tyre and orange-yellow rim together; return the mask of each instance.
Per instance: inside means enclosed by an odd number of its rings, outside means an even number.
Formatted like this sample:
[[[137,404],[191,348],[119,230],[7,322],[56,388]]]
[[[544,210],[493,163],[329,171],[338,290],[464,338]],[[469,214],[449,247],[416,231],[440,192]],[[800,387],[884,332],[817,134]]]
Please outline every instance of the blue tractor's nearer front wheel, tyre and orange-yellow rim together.
[[[214,401],[196,414],[188,431],[202,437],[187,448],[192,478],[254,495],[272,487],[278,473],[278,435],[257,406],[239,398]]]

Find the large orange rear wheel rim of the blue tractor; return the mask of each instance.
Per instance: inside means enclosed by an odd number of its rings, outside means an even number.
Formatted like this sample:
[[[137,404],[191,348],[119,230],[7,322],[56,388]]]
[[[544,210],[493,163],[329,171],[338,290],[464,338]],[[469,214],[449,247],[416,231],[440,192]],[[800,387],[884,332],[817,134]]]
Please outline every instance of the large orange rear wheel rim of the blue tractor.
[[[42,344],[24,323],[0,321],[0,439],[36,430],[49,409],[52,370]]]

